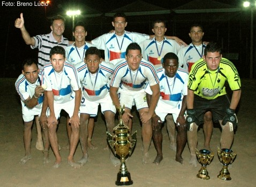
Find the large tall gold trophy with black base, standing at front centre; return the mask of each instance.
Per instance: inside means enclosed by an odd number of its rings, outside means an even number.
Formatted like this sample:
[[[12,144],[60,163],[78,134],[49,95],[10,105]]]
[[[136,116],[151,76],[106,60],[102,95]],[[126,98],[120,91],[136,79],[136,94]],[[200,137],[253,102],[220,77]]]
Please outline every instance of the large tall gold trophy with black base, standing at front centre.
[[[133,181],[131,180],[131,174],[128,172],[125,159],[132,154],[135,143],[137,141],[135,131],[132,136],[130,136],[129,127],[125,126],[122,120],[122,115],[124,114],[124,106],[119,107],[119,123],[114,128],[115,135],[112,136],[107,132],[108,143],[111,150],[114,152],[115,156],[120,159],[121,166],[119,172],[117,173],[116,185],[131,185]]]

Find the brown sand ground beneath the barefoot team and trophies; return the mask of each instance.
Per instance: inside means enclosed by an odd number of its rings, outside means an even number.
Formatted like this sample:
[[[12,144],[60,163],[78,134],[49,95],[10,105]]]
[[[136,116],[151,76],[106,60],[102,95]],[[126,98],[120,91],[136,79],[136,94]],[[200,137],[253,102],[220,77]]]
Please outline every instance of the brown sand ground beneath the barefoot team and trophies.
[[[109,152],[103,150],[106,146],[106,126],[101,115],[95,123],[93,143],[99,147],[89,150],[89,159],[80,169],[70,167],[66,158],[67,150],[61,150],[62,165],[58,169],[52,168],[55,161],[50,151],[50,163],[43,165],[42,151],[36,150],[36,128],[33,128],[32,159],[26,165],[18,162],[24,156],[25,150],[22,140],[22,116],[19,97],[14,88],[16,79],[0,79],[0,181],[1,186],[116,186],[116,176],[119,167],[114,167],[109,160]],[[189,149],[186,145],[183,152],[184,166],[175,161],[175,152],[169,149],[167,130],[163,128],[163,161],[159,166],[149,163],[142,165],[141,127],[138,117],[134,117],[133,131],[137,130],[137,145],[127,161],[127,168],[133,180],[132,186],[255,186],[256,183],[256,123],[255,99],[256,81],[242,80],[242,99],[238,112],[238,129],[235,134],[232,150],[237,158],[229,169],[232,180],[223,181],[217,178],[222,166],[217,158],[221,131],[214,128],[211,147],[215,156],[207,166],[210,180],[204,181],[196,177],[200,166],[189,165]],[[198,149],[204,144],[204,134],[199,130]],[[58,128],[59,144],[67,143],[65,118],[61,118]],[[153,143],[150,146],[152,161],[156,152]],[[77,147],[75,160],[81,158],[80,145]]]

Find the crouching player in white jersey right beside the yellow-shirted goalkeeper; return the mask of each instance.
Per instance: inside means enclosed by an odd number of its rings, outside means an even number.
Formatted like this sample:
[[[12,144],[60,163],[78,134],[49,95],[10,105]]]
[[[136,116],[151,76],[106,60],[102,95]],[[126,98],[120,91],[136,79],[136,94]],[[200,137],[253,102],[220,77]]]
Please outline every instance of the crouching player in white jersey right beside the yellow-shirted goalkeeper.
[[[178,57],[175,53],[169,52],[163,57],[162,67],[156,69],[160,83],[160,99],[152,116],[153,142],[157,152],[153,163],[159,165],[163,159],[162,153],[162,126],[165,116],[172,114],[177,129],[177,151],[176,161],[183,163],[182,152],[186,145],[185,116],[187,99],[187,81],[189,73],[179,67]],[[152,98],[152,91],[147,85],[146,97],[148,105]]]

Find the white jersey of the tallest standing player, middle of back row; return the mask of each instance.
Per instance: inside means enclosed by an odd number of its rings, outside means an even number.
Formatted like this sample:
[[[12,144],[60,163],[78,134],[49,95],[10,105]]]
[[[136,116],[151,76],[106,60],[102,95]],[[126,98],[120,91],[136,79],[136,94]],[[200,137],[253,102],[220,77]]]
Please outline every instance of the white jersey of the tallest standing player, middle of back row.
[[[115,33],[103,34],[92,40],[92,44],[105,51],[105,61],[116,65],[118,61],[125,59],[126,48],[130,43],[140,43],[146,39],[149,39],[149,35],[125,30],[122,36]]]

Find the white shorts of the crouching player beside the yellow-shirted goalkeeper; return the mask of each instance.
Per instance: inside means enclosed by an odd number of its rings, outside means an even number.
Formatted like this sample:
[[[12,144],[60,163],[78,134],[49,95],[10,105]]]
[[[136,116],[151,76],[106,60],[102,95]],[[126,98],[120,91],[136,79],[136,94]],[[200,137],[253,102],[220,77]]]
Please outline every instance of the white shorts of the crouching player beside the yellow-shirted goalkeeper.
[[[162,100],[159,100],[155,108],[156,115],[158,115],[162,121],[164,121],[167,114],[172,114],[172,117],[174,118],[174,122],[176,123],[179,112],[180,112],[180,108],[178,107],[172,108],[172,106],[168,105],[167,103],[164,103]]]

